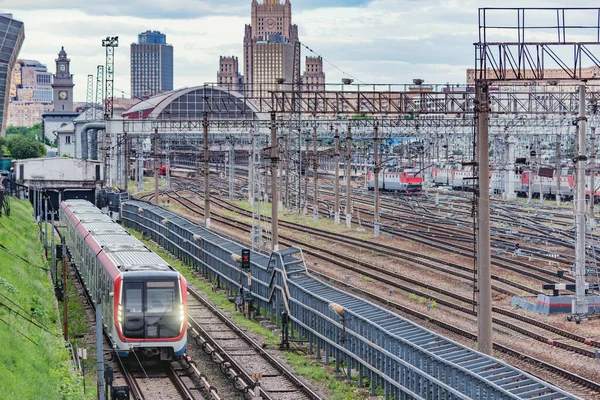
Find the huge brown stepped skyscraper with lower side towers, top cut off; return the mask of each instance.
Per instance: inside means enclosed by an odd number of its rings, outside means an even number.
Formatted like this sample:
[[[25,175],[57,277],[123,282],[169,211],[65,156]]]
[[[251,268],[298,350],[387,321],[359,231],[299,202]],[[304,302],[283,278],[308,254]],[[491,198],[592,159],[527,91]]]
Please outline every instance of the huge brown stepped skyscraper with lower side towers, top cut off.
[[[221,57],[217,83],[237,90],[242,82],[247,91],[253,90],[255,85],[257,90],[259,85],[265,84],[271,88],[275,78],[284,78],[286,84],[292,84],[294,67],[300,70],[300,58],[294,60],[294,52],[290,48],[293,49],[298,41],[298,25],[292,23],[289,0],[283,4],[280,0],[264,0],[262,4],[252,0],[250,24],[244,29],[243,70],[240,73],[237,69],[237,57]],[[315,63],[320,63],[320,66]],[[309,64],[312,72],[309,74],[310,88],[323,87],[322,59],[311,58]],[[303,84],[303,88],[307,88],[308,82]]]

